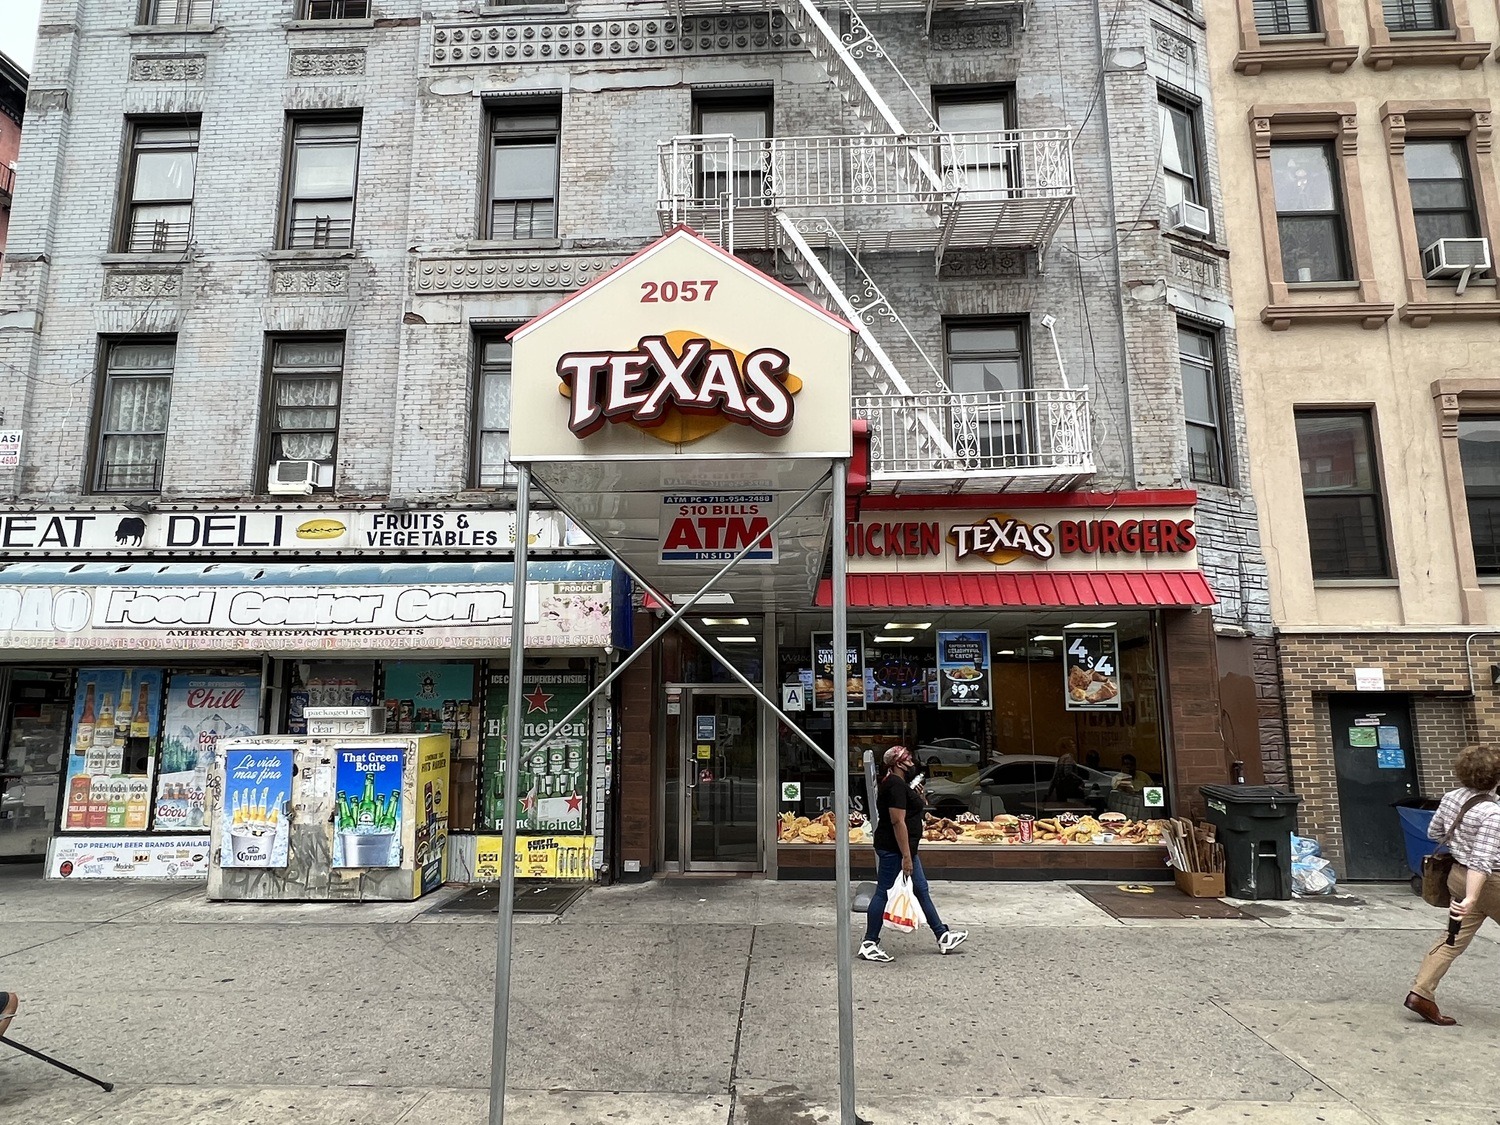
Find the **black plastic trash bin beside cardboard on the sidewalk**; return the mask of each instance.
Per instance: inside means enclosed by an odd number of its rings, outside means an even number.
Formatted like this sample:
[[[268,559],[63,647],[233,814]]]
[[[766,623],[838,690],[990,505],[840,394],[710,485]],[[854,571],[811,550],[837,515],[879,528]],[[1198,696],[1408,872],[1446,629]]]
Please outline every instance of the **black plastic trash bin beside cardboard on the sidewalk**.
[[[1302,798],[1274,784],[1206,784],[1208,820],[1224,844],[1232,898],[1292,897],[1292,832]]]

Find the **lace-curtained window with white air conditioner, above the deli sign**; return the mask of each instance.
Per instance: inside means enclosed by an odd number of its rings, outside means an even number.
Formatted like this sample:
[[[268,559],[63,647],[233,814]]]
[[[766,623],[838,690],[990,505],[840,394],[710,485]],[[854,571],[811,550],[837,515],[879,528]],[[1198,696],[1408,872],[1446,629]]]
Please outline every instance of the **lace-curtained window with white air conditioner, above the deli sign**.
[[[267,460],[314,460],[316,486],[333,488],[339,441],[344,340],[280,336],[270,340]]]

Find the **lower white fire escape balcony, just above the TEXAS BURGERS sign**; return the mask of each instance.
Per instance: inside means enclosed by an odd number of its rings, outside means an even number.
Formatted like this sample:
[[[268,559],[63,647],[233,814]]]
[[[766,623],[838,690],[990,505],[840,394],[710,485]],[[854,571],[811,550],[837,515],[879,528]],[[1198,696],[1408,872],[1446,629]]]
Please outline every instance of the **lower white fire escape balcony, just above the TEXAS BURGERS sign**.
[[[1094,476],[1086,387],[856,394],[870,490],[1059,492]]]

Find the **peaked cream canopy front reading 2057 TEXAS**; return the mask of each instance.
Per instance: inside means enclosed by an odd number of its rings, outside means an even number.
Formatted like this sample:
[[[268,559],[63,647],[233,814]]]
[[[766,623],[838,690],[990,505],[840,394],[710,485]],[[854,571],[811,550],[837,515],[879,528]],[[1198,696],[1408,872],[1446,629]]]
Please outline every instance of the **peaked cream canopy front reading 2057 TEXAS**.
[[[848,458],[850,333],[680,226],[512,336],[510,456]]]

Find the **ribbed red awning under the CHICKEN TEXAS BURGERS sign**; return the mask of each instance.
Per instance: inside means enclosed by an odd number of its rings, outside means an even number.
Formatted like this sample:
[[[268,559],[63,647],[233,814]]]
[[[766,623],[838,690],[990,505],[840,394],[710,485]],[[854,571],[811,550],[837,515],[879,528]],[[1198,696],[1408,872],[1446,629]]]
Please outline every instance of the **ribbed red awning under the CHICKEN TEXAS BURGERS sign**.
[[[1112,570],[1050,574],[850,574],[854,609],[1044,609],[1047,606],[1212,606],[1218,602],[1200,570]],[[818,604],[832,604],[832,582],[818,586]]]

